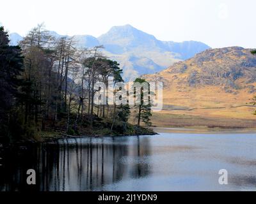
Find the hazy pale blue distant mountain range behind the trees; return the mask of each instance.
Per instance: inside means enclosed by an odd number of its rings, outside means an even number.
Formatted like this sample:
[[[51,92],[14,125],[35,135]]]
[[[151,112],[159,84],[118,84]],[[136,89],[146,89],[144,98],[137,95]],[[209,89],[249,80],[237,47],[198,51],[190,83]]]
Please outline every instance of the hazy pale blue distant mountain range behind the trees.
[[[54,31],[50,33],[61,38]],[[68,36],[67,36],[68,37]],[[13,45],[22,39],[21,36],[10,36]],[[118,61],[124,70],[124,79],[133,80],[140,75],[156,73],[173,64],[183,61],[202,52],[209,46],[196,41],[160,41],[152,34],[136,29],[130,24],[113,26],[99,38],[90,35],[75,35],[77,48],[92,48],[97,45],[104,46],[104,55]],[[135,57],[129,57],[129,56]]]

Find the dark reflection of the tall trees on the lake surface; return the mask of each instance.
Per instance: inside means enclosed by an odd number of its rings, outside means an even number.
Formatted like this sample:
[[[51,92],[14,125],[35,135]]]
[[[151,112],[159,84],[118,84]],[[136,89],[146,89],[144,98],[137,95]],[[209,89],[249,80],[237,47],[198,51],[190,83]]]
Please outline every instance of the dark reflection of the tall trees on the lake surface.
[[[123,179],[147,177],[147,137],[68,138],[4,150],[0,191],[93,191]],[[26,171],[36,170],[36,185]]]

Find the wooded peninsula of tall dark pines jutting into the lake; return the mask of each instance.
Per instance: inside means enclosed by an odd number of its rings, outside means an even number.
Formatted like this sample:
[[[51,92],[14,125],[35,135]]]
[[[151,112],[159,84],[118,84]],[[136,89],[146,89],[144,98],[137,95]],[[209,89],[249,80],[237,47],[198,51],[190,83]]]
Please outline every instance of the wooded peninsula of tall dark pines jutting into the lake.
[[[153,135],[150,105],[96,105],[95,84],[124,82],[102,46],[77,49],[43,25],[10,46],[0,28],[0,138],[4,143],[61,136]],[[137,79],[138,82],[145,80]],[[108,100],[108,99],[107,99]],[[132,119],[133,118],[133,119]],[[130,122],[131,120],[131,122]]]

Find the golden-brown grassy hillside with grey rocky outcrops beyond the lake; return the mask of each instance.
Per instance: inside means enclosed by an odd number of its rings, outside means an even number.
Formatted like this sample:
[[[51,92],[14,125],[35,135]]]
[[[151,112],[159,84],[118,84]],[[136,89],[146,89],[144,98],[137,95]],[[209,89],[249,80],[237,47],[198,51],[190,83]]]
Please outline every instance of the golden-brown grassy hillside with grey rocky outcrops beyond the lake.
[[[164,109],[154,114],[157,126],[256,128],[256,57],[250,49],[205,50],[177,62],[148,82],[163,82]],[[161,122],[162,121],[162,122]]]

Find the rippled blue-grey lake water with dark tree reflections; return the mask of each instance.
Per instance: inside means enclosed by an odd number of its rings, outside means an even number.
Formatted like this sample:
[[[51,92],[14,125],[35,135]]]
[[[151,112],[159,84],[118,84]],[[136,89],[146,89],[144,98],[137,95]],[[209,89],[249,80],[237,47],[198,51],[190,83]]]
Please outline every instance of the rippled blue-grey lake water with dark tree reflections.
[[[0,157],[0,191],[256,191],[255,133],[70,138]]]

